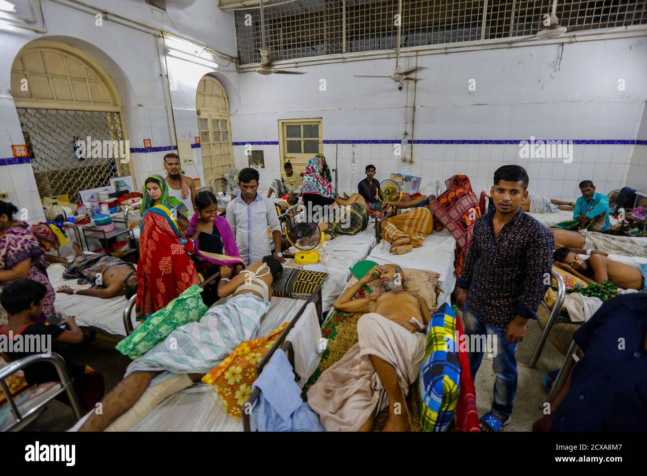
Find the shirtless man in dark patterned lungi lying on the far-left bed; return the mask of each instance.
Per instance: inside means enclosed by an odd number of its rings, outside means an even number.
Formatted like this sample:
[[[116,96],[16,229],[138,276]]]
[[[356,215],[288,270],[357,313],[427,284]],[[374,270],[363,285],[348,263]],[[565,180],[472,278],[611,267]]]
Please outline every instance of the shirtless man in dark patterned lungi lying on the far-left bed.
[[[94,296],[102,299],[124,295],[126,299],[130,299],[137,294],[137,271],[132,263],[102,253],[83,255],[82,249],[76,242],[72,243],[72,247],[74,260],[71,263],[61,256],[52,255],[46,256],[47,261],[67,266],[63,272],[63,278],[80,278],[92,284],[93,288],[72,289],[70,286],[61,286],[56,289],[57,293]]]

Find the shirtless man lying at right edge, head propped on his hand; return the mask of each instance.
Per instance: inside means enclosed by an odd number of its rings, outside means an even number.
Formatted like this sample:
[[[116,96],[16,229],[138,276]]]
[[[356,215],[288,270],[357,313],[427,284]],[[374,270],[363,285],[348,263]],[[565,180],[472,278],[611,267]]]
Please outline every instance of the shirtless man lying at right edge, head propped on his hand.
[[[602,255],[592,255],[583,260],[567,247],[556,249],[553,259],[556,266],[589,284],[609,280],[618,288],[647,291],[647,264],[639,267],[629,266]]]

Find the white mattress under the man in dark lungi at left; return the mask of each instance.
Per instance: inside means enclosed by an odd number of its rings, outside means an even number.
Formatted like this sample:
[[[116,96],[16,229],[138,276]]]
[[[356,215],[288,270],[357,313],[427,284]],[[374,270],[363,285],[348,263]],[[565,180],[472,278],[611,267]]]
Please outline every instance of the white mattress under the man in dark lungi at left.
[[[51,264],[47,268],[49,282],[54,289],[59,286],[76,284],[77,279],[63,278],[65,266]],[[76,324],[83,327],[92,327],[106,334],[126,336],[124,329],[124,308],[127,300],[124,296],[111,299],[101,299],[93,296],[80,296],[74,294],[56,293],[54,306],[56,311],[65,315],[76,317]],[[133,323],[134,323],[133,319]],[[137,326],[138,323],[135,323]]]

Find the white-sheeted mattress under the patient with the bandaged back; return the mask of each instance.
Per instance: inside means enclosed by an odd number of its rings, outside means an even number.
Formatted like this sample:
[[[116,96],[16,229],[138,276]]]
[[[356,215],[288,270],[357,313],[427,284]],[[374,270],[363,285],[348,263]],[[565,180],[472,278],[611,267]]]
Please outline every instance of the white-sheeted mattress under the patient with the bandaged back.
[[[270,309],[263,318],[258,336],[267,335],[291,321],[305,300],[272,297]],[[85,422],[87,415],[71,431]],[[243,431],[243,422],[229,416],[211,385],[196,383],[170,396],[131,431]]]

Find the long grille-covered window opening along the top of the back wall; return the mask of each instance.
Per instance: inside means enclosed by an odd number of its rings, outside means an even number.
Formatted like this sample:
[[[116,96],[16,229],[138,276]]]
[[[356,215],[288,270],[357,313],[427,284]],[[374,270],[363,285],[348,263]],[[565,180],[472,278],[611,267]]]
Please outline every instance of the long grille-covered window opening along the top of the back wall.
[[[400,46],[534,35],[552,5],[552,0],[402,0]],[[265,41],[275,60],[397,46],[398,0],[299,0],[263,10]],[[560,0],[557,16],[569,31],[641,25],[647,23],[647,2]],[[258,9],[236,12],[236,36],[239,62],[260,62]]]

